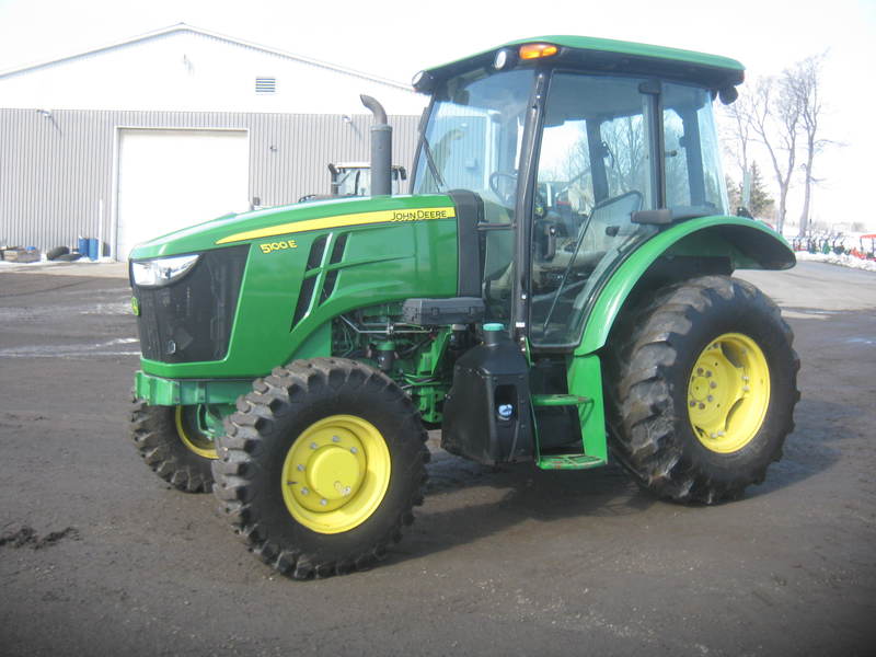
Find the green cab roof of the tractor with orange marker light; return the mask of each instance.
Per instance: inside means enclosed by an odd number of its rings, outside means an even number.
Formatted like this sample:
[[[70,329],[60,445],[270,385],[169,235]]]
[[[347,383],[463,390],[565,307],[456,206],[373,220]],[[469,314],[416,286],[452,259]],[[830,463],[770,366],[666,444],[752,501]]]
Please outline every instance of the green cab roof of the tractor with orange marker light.
[[[550,35],[521,38],[489,50],[427,69],[436,79],[488,66],[496,53],[508,48],[517,50],[525,44],[551,44],[558,47],[556,55],[544,59],[521,61],[518,66],[544,64],[579,70],[607,73],[638,73],[695,82],[712,89],[739,84],[745,79],[745,67],[735,59],[707,55],[694,50],[667,48],[591,36]]]

